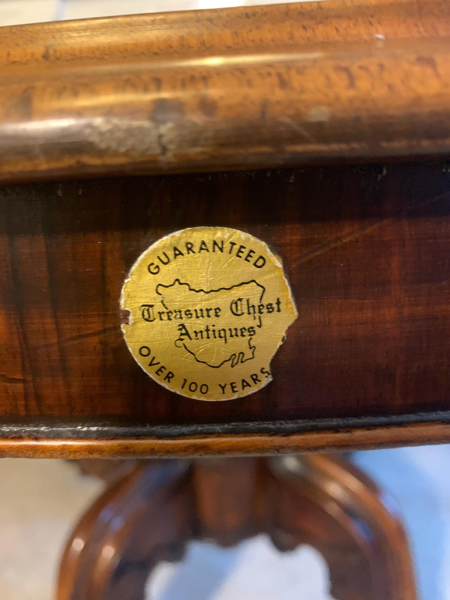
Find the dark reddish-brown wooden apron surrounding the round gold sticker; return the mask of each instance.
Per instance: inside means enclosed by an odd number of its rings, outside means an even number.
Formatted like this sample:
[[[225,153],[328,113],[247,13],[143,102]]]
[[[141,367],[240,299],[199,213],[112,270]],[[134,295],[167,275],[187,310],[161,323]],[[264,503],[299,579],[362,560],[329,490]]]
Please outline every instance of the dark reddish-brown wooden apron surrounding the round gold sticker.
[[[315,433],[361,427],[390,433],[379,442],[370,429],[343,433],[337,447],[413,443],[413,431],[422,443],[449,439],[439,425],[450,420],[449,192],[443,160],[4,186],[4,452],[46,438],[48,455],[66,438],[65,453],[84,443],[102,455],[88,440],[110,438],[104,448],[121,456],[239,453],[251,452],[252,435],[254,452],[292,451],[308,440],[310,449],[332,445],[332,434]],[[299,308],[272,361],[274,381],[241,400],[166,391],[134,362],[119,328],[136,257],[200,224],[268,242]],[[431,421],[425,434],[416,427]],[[233,436],[244,438],[233,446]],[[121,447],[139,437],[135,449]]]

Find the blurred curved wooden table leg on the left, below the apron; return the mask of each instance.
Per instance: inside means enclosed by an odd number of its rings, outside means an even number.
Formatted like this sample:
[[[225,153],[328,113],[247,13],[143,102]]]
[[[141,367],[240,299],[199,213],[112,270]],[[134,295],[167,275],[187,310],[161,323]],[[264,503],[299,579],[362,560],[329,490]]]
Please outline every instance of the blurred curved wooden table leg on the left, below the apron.
[[[188,461],[142,462],[83,515],[61,560],[56,600],[142,600],[152,567],[193,536]]]

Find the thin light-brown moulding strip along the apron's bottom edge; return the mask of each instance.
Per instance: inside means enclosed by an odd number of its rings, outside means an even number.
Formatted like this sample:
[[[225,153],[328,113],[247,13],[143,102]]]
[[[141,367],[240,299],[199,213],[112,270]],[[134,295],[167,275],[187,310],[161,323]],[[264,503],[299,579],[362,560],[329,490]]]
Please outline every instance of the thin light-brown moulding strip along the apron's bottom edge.
[[[448,443],[450,424],[352,428],[291,435],[205,435],[178,439],[117,438],[0,440],[0,457],[22,458],[190,458],[332,452]]]

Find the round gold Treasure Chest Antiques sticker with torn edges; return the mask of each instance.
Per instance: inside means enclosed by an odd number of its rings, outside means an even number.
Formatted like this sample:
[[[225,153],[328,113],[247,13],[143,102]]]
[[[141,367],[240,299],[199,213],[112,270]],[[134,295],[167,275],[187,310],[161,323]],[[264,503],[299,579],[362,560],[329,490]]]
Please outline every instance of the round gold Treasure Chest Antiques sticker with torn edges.
[[[297,318],[283,265],[257,238],[193,227],[155,242],[131,268],[121,308],[128,349],[152,379],[197,400],[230,400],[272,380]]]

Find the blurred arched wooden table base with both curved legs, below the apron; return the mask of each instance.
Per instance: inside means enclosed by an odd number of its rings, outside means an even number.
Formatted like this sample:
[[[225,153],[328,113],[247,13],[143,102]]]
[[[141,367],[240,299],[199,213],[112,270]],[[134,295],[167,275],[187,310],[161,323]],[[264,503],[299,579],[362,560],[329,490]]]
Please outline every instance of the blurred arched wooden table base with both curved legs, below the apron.
[[[74,529],[56,600],[138,600],[154,566],[181,560],[190,539],[229,546],[257,533],[281,551],[317,548],[336,600],[415,600],[406,536],[385,500],[330,455],[144,462]]]

